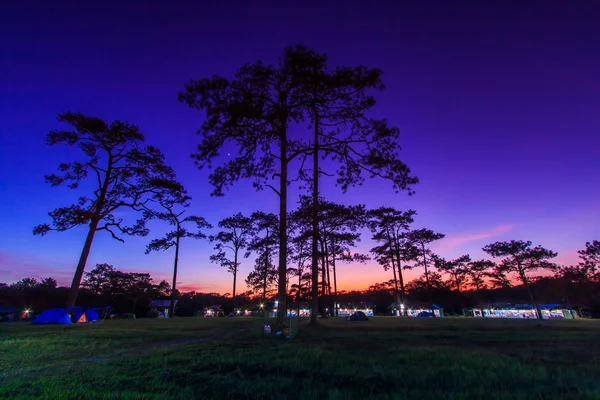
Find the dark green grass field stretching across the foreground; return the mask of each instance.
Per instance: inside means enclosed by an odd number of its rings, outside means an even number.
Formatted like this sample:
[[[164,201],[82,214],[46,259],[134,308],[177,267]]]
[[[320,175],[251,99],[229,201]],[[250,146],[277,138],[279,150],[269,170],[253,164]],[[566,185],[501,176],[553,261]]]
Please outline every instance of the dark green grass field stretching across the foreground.
[[[7,399],[600,399],[600,321],[260,320],[0,325]]]

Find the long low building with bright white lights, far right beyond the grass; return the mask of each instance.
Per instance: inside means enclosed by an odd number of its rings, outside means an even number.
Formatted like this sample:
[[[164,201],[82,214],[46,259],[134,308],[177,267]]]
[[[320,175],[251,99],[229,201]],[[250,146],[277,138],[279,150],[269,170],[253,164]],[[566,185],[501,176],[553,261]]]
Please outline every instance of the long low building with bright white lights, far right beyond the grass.
[[[577,311],[561,304],[540,304],[543,319],[575,319]],[[473,307],[470,314],[475,318],[537,319],[538,313],[531,304],[490,303]]]

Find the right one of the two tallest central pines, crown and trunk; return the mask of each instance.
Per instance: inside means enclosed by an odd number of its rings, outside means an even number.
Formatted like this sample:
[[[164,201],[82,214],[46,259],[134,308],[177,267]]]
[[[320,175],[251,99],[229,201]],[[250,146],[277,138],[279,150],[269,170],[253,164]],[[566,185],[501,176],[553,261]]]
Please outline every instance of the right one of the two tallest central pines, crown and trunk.
[[[327,71],[327,56],[321,55],[305,70],[304,94],[307,98],[306,112],[313,132],[312,143],[306,151],[312,153],[313,206],[313,302],[311,324],[317,322],[317,270],[320,214],[319,176],[327,174],[319,167],[319,159],[331,159],[336,165],[337,184],[342,191],[361,185],[363,173],[371,178],[381,177],[392,181],[396,190],[409,190],[417,183],[410,176],[410,169],[398,158],[399,131],[389,127],[386,120],[368,118],[366,112],[375,105],[369,90],[382,90],[381,71],[358,67],[337,67]],[[300,177],[309,179],[300,167]],[[329,175],[329,174],[327,174]],[[326,242],[326,241],[325,241]],[[323,251],[322,251],[323,252]],[[328,270],[327,270],[328,271]],[[335,275],[335,274],[334,274]],[[334,277],[335,280],[335,277]],[[324,284],[325,279],[322,279]]]

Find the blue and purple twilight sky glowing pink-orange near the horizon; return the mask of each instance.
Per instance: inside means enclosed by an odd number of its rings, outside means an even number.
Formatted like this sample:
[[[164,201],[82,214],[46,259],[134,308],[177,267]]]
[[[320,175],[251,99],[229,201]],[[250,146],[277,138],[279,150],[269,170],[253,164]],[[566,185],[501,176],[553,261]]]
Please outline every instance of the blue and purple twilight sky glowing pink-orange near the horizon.
[[[383,70],[374,115],[400,128],[401,159],[420,179],[409,197],[381,180],[342,194],[325,178],[327,199],[415,209],[415,228],[446,234],[432,246],[446,258],[483,258],[488,243],[522,239],[574,263],[586,241],[600,239],[598,21],[600,5],[587,1],[4,1],[0,282],[72,279],[85,227],[32,235],[78,196],[44,182],[77,157],[44,142],[65,128],[61,112],[138,125],[188,188],[190,212],[214,225],[236,212],[276,213],[276,196],[249,182],[210,196],[207,172],[190,158],[204,115],[177,94],[190,79],[275,63],[295,44],[327,53],[332,67]],[[291,189],[290,203],[298,194]],[[151,227],[125,243],[98,234],[86,270],[109,263],[170,279],[172,252],[144,254],[164,232]],[[372,244],[365,233],[357,251]],[[206,241],[182,243],[180,289],[231,292],[231,275],[211,253]],[[252,265],[252,257],[242,262],[238,282]],[[375,262],[338,274],[346,290],[392,278]]]

